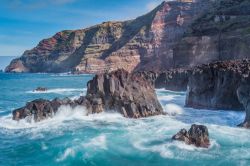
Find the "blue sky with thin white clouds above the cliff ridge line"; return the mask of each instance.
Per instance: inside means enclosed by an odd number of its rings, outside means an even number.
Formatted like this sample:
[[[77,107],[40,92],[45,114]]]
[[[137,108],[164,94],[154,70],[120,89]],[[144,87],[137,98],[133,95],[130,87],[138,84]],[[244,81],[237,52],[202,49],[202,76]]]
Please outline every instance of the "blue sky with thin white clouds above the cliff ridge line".
[[[62,30],[136,18],[163,0],[1,0],[0,56],[21,56]]]

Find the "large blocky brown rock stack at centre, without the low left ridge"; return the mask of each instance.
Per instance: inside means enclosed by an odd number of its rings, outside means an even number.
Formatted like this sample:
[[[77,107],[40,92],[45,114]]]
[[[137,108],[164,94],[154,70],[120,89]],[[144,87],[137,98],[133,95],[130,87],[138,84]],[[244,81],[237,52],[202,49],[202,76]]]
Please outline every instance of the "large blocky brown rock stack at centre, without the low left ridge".
[[[95,76],[88,83],[86,98],[92,113],[116,110],[129,118],[163,114],[153,84],[124,70]]]

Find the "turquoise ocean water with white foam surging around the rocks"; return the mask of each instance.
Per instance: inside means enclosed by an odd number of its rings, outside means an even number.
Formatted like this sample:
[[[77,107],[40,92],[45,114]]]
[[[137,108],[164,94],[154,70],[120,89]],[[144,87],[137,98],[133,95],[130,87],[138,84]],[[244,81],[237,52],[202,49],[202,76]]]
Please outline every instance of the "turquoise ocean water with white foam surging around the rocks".
[[[244,113],[184,108],[185,92],[157,90],[168,116],[86,116],[84,108],[62,107],[54,118],[39,123],[11,120],[11,111],[27,101],[84,95],[91,78],[0,73],[0,165],[250,165],[250,130],[235,127]],[[38,86],[49,91],[34,93]],[[193,123],[208,127],[209,149],[171,140]]]

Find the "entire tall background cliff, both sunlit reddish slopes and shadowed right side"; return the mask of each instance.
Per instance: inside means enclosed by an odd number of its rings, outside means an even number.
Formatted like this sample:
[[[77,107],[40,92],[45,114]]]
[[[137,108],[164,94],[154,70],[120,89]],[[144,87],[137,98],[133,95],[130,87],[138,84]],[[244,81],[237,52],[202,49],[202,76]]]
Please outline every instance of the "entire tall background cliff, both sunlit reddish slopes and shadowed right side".
[[[62,31],[6,72],[161,71],[249,57],[248,0],[178,0],[125,22]]]

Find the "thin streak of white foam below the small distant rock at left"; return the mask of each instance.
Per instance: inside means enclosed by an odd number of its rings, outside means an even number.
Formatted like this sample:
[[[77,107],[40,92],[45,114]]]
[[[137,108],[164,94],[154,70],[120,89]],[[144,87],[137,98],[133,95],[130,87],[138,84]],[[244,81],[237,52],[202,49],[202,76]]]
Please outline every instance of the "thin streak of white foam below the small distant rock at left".
[[[81,89],[73,89],[73,88],[55,88],[55,89],[48,89],[47,91],[27,91],[26,93],[31,93],[31,94],[49,94],[49,93],[54,93],[54,94],[70,94],[73,92],[83,92],[87,91],[86,88],[81,88]]]

